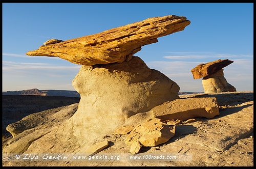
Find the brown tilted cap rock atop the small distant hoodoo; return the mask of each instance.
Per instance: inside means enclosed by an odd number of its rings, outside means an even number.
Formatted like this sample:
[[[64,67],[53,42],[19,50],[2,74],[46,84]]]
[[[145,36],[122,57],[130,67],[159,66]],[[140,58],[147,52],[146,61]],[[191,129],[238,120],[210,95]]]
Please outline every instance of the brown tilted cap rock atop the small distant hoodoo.
[[[197,67],[193,68],[191,72],[193,74],[194,79],[199,79],[210,74],[214,74],[222,68],[230,65],[231,63],[233,63],[233,61],[229,61],[228,59],[219,59],[217,61],[208,62],[206,64],[200,64]]]

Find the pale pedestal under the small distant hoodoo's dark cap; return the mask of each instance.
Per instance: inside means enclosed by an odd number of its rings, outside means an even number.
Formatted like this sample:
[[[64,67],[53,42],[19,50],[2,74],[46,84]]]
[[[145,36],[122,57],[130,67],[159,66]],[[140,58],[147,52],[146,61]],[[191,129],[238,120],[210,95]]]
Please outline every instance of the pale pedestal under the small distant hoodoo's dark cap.
[[[236,92],[236,88],[230,85],[224,77],[223,69],[208,75],[202,80],[204,93]]]

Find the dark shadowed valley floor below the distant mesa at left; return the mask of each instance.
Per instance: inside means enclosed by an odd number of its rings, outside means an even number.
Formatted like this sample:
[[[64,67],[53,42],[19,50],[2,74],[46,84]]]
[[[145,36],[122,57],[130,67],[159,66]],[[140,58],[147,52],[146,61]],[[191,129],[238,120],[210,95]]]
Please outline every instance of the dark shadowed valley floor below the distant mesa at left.
[[[6,127],[9,124],[22,120],[30,114],[78,103],[79,100],[79,97],[2,95],[2,122],[4,126],[2,131],[8,133]]]

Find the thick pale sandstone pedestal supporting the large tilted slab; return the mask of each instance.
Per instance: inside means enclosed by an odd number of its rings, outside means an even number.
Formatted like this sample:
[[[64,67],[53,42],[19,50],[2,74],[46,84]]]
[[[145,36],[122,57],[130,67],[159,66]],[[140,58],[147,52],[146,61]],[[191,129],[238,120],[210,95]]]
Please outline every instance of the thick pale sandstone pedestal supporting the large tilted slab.
[[[73,87],[81,99],[70,125],[82,138],[113,133],[127,118],[179,98],[179,86],[139,57],[121,64],[82,66]]]

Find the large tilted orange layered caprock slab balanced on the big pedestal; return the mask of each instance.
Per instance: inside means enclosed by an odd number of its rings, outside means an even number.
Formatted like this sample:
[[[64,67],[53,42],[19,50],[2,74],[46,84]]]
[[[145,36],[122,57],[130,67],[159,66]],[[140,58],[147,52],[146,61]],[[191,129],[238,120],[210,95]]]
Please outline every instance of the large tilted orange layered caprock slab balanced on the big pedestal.
[[[175,15],[148,18],[98,34],[42,45],[28,51],[31,56],[59,57],[80,65],[122,63],[157,42],[158,37],[183,31],[190,21]]]

